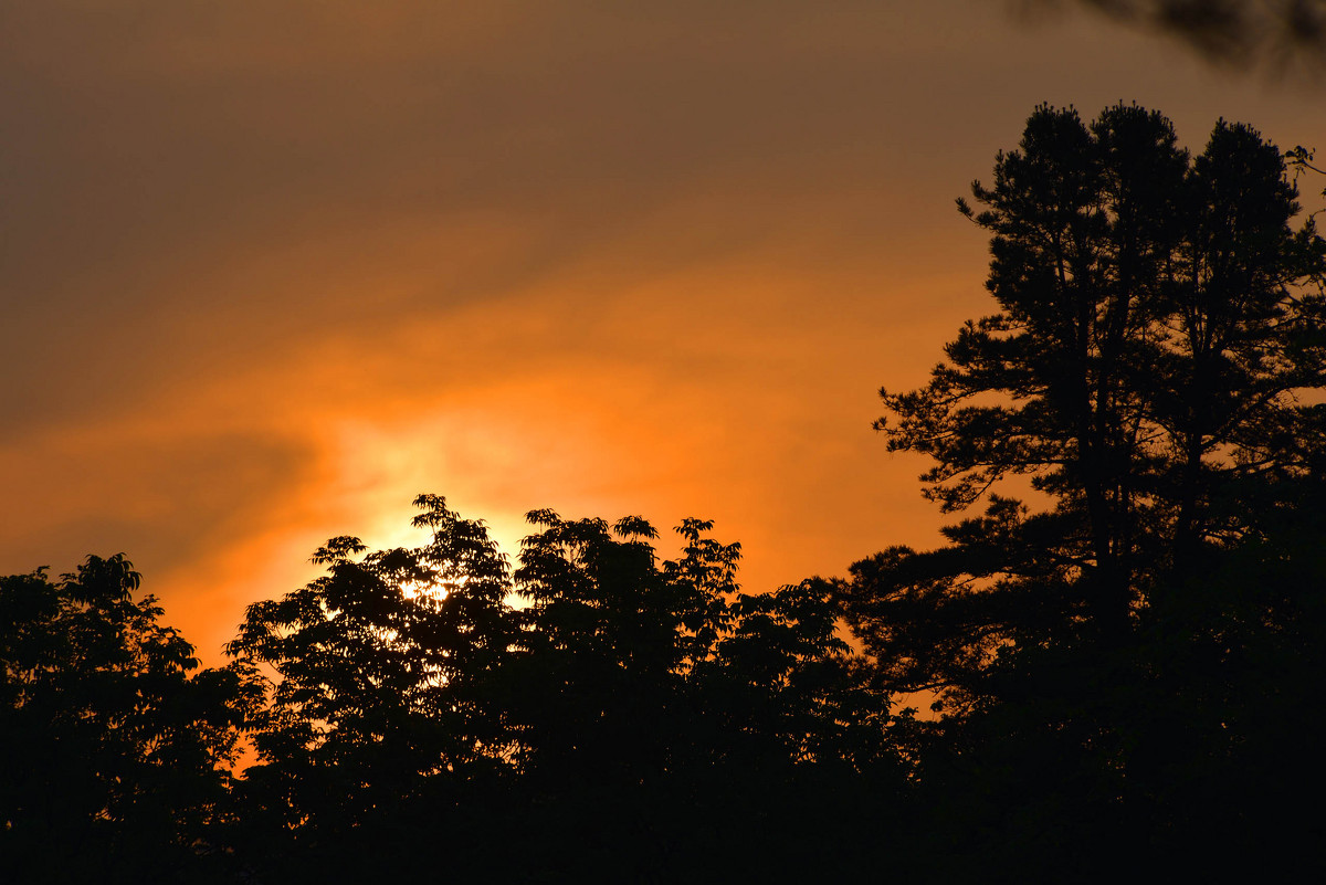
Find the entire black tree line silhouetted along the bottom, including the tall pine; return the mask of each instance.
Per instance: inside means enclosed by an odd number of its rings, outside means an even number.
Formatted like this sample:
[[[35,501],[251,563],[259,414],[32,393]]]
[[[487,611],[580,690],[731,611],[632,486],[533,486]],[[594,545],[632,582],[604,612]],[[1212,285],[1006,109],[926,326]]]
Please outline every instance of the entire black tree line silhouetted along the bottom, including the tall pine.
[[[1238,881],[1326,786],[1326,242],[1221,122],[1037,109],[961,212],[996,310],[884,392],[961,514],[748,595],[740,548],[416,499],[231,664],[122,558],[0,579],[7,881]],[[918,703],[928,710],[910,709]],[[241,750],[249,763],[232,774]]]

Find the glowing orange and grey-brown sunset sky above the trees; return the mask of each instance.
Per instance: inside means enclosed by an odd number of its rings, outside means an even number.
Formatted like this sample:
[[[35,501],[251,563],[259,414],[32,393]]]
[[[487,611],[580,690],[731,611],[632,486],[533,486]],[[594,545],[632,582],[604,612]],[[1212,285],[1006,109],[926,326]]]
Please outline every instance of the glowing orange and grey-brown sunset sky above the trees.
[[[0,574],[123,551],[216,664],[422,492],[713,519],[748,591],[939,543],[878,390],[989,313],[1030,111],[1326,150],[1319,77],[1057,8],[0,0]]]

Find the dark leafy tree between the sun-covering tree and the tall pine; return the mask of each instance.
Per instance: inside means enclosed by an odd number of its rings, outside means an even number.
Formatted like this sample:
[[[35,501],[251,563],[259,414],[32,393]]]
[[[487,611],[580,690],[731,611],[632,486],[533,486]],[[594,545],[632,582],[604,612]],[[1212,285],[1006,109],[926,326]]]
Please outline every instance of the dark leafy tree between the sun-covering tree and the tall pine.
[[[902,766],[829,586],[741,594],[740,550],[709,522],[684,521],[682,558],[658,563],[640,518],[530,521],[516,572],[530,654],[511,709],[529,723],[554,869],[583,874],[586,849],[633,881],[708,881],[717,857],[774,878],[850,865],[845,817],[878,823]]]

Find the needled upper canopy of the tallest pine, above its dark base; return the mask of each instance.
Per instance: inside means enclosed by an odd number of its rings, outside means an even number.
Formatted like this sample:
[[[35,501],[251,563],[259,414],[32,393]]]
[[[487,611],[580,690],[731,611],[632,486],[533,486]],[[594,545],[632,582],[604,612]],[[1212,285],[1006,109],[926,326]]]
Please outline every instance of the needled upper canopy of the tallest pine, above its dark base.
[[[857,568],[862,613],[963,600],[947,674],[931,637],[904,648],[890,619],[858,619],[912,688],[961,690],[961,661],[1067,625],[1126,633],[1205,547],[1258,537],[1317,476],[1326,431],[1305,397],[1326,384],[1326,244],[1311,220],[1290,227],[1284,158],[1252,129],[1221,121],[1193,158],[1154,111],[1089,126],[1041,107],[973,196],[981,211],[959,208],[992,234],[1000,310],[960,330],[924,388],[883,391],[876,428],[934,458],[922,478],[944,510],[985,510],[944,551]],[[997,493],[1016,476],[1034,513]],[[892,582],[907,591],[866,590]]]

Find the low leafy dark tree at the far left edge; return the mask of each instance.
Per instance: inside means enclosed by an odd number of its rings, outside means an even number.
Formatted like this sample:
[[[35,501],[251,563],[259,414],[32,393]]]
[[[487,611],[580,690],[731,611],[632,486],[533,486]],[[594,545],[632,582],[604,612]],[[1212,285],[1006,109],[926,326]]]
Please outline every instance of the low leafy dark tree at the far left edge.
[[[0,578],[0,869],[13,882],[208,881],[244,666],[199,673],[123,554]]]

